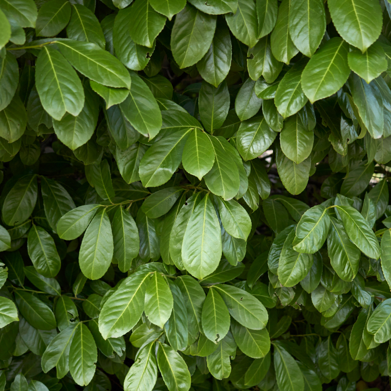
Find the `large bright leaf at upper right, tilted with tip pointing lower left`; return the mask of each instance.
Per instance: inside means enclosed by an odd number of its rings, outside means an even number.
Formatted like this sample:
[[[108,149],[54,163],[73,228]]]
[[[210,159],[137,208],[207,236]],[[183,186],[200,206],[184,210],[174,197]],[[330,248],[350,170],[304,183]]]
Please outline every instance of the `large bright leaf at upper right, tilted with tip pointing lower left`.
[[[335,37],[327,41],[308,61],[302,74],[302,88],[311,103],[337,92],[348,80],[348,43]]]

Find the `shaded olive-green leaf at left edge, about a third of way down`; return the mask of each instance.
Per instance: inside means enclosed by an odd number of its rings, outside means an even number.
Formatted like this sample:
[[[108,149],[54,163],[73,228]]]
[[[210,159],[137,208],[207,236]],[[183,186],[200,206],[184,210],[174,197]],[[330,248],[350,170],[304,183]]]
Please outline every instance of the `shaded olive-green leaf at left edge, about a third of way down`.
[[[16,94],[11,103],[0,111],[0,137],[9,143],[19,140],[26,129],[26,123],[26,109],[19,95]],[[3,149],[6,149],[6,147],[3,147]],[[16,154],[16,152],[13,154]]]

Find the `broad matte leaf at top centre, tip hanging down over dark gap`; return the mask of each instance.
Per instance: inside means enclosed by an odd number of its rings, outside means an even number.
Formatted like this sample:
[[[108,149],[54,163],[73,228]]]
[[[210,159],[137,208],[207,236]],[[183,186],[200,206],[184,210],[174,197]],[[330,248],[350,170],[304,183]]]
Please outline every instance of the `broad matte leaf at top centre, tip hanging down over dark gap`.
[[[216,29],[216,16],[204,14],[192,5],[175,16],[171,50],[179,68],[194,65],[208,51]]]

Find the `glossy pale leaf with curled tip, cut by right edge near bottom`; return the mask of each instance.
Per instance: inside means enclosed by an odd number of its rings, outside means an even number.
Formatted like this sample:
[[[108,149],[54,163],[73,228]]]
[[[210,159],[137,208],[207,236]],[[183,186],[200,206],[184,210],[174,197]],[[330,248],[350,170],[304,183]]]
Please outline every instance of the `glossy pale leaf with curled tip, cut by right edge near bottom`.
[[[375,342],[381,344],[391,338],[391,299],[380,303],[370,315],[367,329]]]

